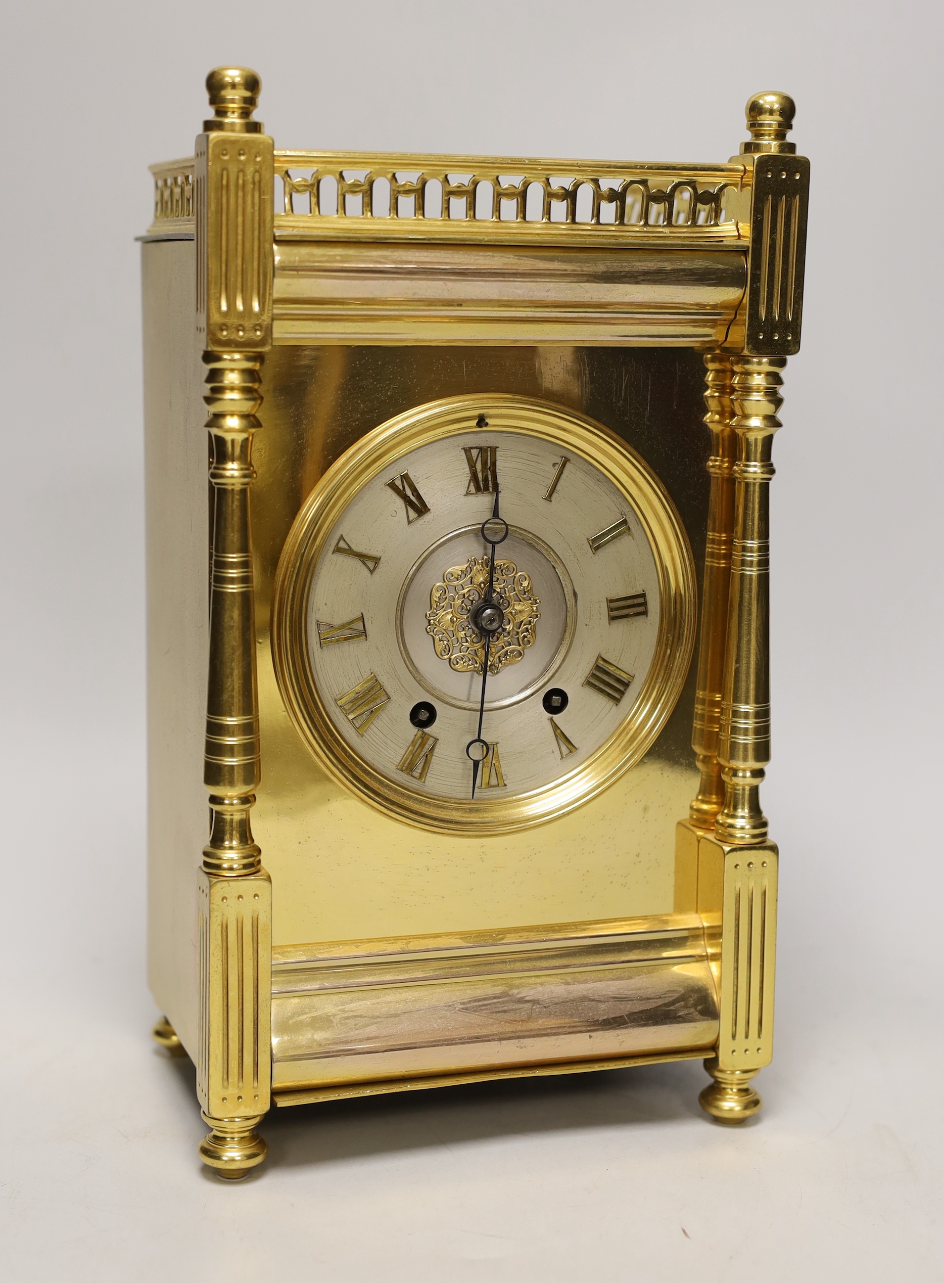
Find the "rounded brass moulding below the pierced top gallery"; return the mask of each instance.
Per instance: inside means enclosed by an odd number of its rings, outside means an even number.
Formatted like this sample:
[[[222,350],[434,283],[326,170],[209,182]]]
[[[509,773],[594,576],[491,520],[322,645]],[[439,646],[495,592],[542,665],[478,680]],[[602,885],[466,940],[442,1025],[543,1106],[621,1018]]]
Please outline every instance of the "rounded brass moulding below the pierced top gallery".
[[[294,241],[277,225],[276,343],[716,346],[746,286],[746,241]]]

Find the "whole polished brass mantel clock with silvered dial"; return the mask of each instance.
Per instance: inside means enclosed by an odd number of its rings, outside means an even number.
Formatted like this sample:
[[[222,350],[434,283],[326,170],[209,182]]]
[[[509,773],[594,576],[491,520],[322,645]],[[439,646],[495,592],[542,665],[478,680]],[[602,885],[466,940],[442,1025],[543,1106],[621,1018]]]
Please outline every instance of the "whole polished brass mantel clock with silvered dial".
[[[272,1105],[693,1057],[749,1117],[793,101],[623,164],[277,151],[206,83],[144,237],[150,976],[204,1161]]]

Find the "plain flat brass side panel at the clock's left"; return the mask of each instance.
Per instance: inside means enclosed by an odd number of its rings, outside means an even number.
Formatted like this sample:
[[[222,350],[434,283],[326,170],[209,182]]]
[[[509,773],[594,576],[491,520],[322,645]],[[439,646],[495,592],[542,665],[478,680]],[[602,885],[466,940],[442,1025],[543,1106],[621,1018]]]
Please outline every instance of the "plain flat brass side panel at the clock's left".
[[[205,408],[192,240],[141,246],[148,561],[148,976],[196,1056],[196,854],[206,842],[203,785],[208,633]]]

